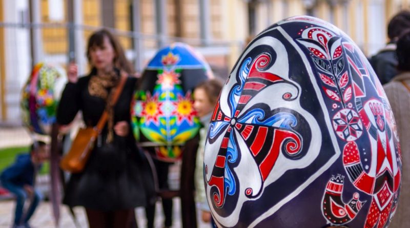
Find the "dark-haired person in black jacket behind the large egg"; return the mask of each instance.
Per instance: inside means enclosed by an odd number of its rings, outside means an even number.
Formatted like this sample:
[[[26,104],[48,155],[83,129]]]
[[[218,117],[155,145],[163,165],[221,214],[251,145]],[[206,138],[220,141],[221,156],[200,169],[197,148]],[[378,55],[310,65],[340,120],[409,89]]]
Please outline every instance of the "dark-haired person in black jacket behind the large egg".
[[[403,10],[393,16],[387,26],[389,42],[369,59],[382,85],[397,74],[396,42],[402,32],[408,28],[410,28],[410,11]]]

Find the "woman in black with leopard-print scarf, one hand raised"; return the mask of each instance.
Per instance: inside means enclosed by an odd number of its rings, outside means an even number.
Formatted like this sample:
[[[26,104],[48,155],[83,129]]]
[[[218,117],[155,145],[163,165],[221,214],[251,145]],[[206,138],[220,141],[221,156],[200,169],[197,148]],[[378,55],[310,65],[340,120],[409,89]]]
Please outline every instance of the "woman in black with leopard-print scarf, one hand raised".
[[[78,111],[89,127],[97,124],[104,110],[109,117],[85,169],[71,175],[63,202],[84,206],[91,228],[130,227],[135,219],[134,208],[145,206],[154,195],[148,162],[136,148],[130,130],[136,78],[128,76],[116,105],[108,106],[120,72],[130,75],[131,65],[117,38],[106,29],[90,36],[87,57],[91,68],[87,76],[78,77],[75,64],[68,67],[69,82],[61,96],[57,122],[68,125]]]

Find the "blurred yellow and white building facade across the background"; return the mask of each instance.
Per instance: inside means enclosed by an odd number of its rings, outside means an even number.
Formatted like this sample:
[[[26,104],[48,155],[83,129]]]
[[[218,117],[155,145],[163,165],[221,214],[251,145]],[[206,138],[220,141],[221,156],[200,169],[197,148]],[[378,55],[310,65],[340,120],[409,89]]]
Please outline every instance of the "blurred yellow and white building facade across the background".
[[[283,18],[327,20],[370,55],[386,43],[389,18],[409,7],[410,0],[0,0],[0,122],[20,122],[20,89],[33,63],[64,68],[71,56],[86,73],[87,38],[99,27],[114,29],[137,71],[159,47],[185,42],[225,78],[247,40]]]

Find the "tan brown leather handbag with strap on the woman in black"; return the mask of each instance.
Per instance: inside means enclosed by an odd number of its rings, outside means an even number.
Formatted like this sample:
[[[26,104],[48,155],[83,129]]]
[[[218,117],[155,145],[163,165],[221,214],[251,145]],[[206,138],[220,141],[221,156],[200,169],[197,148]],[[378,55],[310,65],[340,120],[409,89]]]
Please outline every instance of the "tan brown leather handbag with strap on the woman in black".
[[[115,106],[115,103],[124,88],[126,80],[127,75],[121,72],[120,82],[111,100],[112,106]],[[95,127],[81,128],[78,131],[73,143],[71,144],[69,152],[60,161],[60,168],[62,170],[70,173],[80,173],[84,170],[88,158],[91,155],[91,151],[94,148],[95,139],[103,130],[107,119],[108,112],[105,110]]]

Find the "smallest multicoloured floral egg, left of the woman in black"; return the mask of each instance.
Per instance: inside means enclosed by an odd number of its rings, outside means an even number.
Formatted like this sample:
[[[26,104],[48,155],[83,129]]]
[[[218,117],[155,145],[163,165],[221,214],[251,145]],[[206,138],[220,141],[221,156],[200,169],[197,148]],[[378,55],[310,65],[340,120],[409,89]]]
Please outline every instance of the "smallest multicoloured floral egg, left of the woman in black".
[[[58,101],[67,78],[55,67],[34,66],[22,89],[20,108],[24,125],[30,132],[48,135],[56,121]]]

